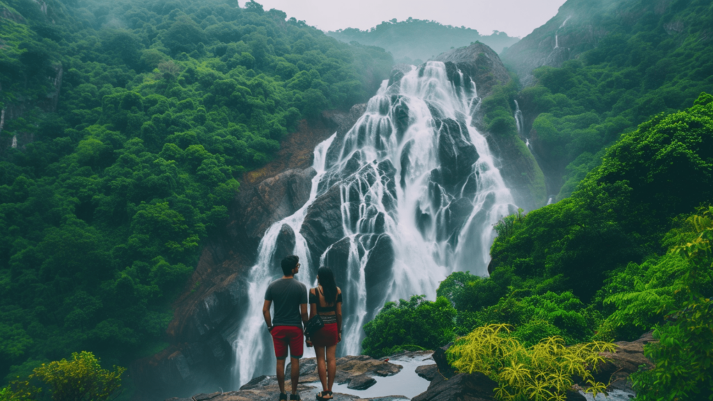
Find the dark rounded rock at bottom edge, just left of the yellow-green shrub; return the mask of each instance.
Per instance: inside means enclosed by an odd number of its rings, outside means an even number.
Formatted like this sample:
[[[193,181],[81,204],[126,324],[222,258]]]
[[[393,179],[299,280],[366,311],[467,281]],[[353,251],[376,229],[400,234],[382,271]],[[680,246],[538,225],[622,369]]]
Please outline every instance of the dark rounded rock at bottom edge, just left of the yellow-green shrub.
[[[438,375],[426,392],[413,401],[490,401],[495,400],[493,389],[498,387],[482,373],[460,373],[450,379]]]

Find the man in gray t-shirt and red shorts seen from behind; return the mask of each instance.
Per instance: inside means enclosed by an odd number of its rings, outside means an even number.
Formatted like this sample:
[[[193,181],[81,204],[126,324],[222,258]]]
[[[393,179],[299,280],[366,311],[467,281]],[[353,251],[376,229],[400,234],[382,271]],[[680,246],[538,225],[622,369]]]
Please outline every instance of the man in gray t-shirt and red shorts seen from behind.
[[[282,259],[282,278],[267,286],[265,304],[262,305],[262,315],[270,330],[272,342],[275,343],[277,357],[277,383],[279,384],[279,399],[287,400],[284,391],[284,360],[287,359],[287,348],[292,362],[292,395],[290,400],[299,400],[297,383],[299,382],[299,358],[302,357],[304,344],[303,325],[307,324],[307,287],[295,280],[299,273],[299,258],[295,255]],[[275,303],[275,320],[270,319],[270,305]],[[274,323],[274,325],[273,325]]]

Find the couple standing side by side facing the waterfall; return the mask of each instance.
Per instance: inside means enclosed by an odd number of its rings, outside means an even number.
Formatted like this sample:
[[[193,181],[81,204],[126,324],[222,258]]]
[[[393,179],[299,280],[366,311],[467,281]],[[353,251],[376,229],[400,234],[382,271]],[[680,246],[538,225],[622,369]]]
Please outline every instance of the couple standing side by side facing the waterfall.
[[[299,400],[297,383],[299,382],[299,358],[302,357],[303,327],[307,319],[307,287],[294,278],[299,273],[299,258],[291,255],[282,259],[282,278],[267,286],[262,315],[267,323],[267,330],[272,335],[277,357],[277,382],[279,400],[287,400],[284,390],[284,360],[287,348],[291,357],[292,395],[290,400]],[[317,287],[309,290],[309,319],[319,315],[324,327],[307,337],[307,347],[314,345],[317,352],[317,372],[322,382],[322,392],[317,400],[332,400],[332,384],[337,372],[337,342],[342,340],[342,290],[334,281],[334,274],[329,268],[317,271]],[[270,305],[275,303],[275,319],[270,317]],[[306,333],[305,333],[306,334]],[[325,361],[325,354],[327,356]]]

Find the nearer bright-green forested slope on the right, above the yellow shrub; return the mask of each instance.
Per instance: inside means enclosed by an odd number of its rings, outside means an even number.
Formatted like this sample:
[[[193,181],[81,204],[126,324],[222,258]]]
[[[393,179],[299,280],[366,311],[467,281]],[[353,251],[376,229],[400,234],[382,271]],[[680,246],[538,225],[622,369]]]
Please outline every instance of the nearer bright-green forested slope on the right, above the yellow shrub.
[[[703,93],[623,135],[570,198],[501,220],[491,276],[453,273],[438,288],[456,308],[451,327],[466,335],[512,325],[508,337],[523,347],[655,330],[660,343],[647,355],[657,367],[635,377],[637,391],[710,397],[713,210],[700,206],[712,188],[713,96]]]

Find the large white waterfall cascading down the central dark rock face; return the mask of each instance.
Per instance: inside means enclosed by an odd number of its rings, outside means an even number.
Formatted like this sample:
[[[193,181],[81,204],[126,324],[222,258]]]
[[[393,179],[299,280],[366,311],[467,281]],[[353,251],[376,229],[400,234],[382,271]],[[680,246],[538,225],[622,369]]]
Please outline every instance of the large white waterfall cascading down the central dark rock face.
[[[382,83],[351,130],[317,146],[309,201],[262,238],[247,279],[250,305],[235,340],[240,385],[254,375],[274,375],[261,310],[265,288],[277,277],[269,265],[283,224],[296,234],[302,278],[314,280],[319,264],[327,264],[342,287],[339,355],[359,354],[362,327],[385,301],[419,294],[433,300],[453,271],[488,274],[493,225],[517,207],[486,138],[473,127],[476,85],[436,61],[395,76],[401,78]],[[319,248],[314,233],[299,231],[309,208],[329,196],[338,196],[341,238]],[[338,252],[342,259],[329,256]]]

